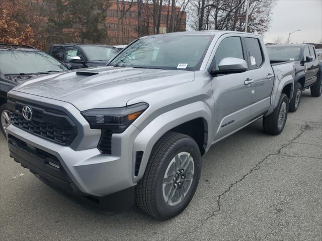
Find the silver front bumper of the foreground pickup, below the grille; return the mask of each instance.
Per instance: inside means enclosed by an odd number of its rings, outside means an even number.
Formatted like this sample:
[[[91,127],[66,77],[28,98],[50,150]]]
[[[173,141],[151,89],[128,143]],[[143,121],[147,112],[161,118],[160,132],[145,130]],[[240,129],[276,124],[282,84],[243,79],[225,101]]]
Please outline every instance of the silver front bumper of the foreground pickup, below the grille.
[[[131,128],[134,132],[137,130],[135,127]],[[132,152],[125,152],[123,156],[111,156],[101,154],[97,148],[74,151],[70,147],[44,140],[13,125],[10,125],[6,132],[11,156],[17,162],[25,165],[33,173],[46,177],[46,180],[67,192],[106,196],[135,185],[132,182]],[[31,149],[39,149],[56,158],[58,165],[61,165],[60,171],[53,171],[54,167],[48,165],[49,159],[41,160],[21,146],[14,145],[14,142],[10,142],[13,138],[26,143]],[[40,169],[39,166],[45,168]],[[52,173],[55,175],[50,175]]]

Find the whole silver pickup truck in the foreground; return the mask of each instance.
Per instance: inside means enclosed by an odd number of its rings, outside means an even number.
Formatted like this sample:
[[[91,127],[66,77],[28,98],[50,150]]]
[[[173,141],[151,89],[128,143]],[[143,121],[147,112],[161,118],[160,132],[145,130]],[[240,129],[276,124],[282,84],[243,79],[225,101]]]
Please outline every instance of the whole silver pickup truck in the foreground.
[[[260,36],[146,36],[108,66],[53,73],[8,94],[10,155],[53,187],[105,209],[183,211],[211,145],[263,118],[282,132],[293,62],[270,64]]]

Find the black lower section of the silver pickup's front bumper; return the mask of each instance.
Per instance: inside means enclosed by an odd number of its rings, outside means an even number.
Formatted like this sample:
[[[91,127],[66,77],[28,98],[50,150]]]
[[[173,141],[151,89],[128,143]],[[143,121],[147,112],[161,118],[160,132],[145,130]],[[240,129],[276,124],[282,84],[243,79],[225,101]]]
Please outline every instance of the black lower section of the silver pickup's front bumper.
[[[103,213],[106,214],[106,211],[108,213],[122,211],[134,204],[134,186],[103,197],[89,195],[75,186],[55,156],[34,148],[12,135],[8,135],[8,146],[10,156],[16,162],[28,168],[36,177],[55,190],[65,191],[61,193],[85,207],[100,213],[104,210]],[[82,200],[68,194],[82,197]],[[88,202],[99,208],[87,205]]]

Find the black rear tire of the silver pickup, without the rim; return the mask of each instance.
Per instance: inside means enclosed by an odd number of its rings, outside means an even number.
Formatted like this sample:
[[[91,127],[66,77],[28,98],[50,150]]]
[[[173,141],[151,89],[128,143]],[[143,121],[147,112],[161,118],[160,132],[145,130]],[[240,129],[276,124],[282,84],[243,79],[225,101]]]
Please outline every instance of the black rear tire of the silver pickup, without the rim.
[[[283,112],[283,115],[285,115],[285,117],[283,118],[282,125],[279,126],[280,110],[283,103],[285,103],[286,105],[286,109]],[[274,111],[271,114],[263,117],[264,132],[271,135],[280,134],[285,127],[286,120],[287,120],[287,113],[288,113],[288,97],[286,94],[282,93],[280,100],[278,101],[278,105],[276,106]]]

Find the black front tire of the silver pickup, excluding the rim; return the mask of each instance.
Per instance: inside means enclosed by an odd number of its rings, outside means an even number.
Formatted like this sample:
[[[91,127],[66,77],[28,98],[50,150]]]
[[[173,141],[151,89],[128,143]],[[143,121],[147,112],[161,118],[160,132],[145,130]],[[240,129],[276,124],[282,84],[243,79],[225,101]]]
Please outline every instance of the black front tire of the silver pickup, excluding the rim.
[[[193,159],[193,179],[182,201],[169,205],[164,198],[163,181],[168,166],[182,152],[190,153]],[[144,212],[157,219],[172,218],[188,206],[196,192],[200,175],[201,155],[197,143],[187,135],[167,133],[154,145],[145,173],[136,185],[136,203]]]

